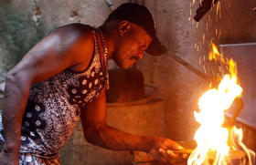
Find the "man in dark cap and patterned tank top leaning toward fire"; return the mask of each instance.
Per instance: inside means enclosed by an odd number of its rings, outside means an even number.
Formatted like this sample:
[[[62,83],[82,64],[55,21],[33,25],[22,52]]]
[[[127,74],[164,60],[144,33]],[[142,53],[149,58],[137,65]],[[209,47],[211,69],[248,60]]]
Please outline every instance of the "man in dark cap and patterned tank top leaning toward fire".
[[[108,61],[133,66],[144,50],[165,53],[152,15],[123,4],[99,28],[62,26],[42,39],[6,76],[0,165],[59,164],[79,117],[85,138],[110,150],[141,150],[155,159],[178,158],[171,139],[137,136],[106,123]]]

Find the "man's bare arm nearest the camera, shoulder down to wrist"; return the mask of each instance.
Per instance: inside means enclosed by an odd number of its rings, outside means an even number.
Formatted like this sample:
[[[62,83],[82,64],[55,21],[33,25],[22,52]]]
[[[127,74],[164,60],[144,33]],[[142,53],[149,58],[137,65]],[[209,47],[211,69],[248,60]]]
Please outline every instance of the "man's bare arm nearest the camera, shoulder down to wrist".
[[[15,161],[14,164],[18,162],[21,122],[31,85],[66,68],[80,65],[82,56],[91,56],[93,39],[86,39],[91,38],[91,34],[75,28],[64,27],[54,31],[7,73],[3,107],[4,153],[9,160]]]

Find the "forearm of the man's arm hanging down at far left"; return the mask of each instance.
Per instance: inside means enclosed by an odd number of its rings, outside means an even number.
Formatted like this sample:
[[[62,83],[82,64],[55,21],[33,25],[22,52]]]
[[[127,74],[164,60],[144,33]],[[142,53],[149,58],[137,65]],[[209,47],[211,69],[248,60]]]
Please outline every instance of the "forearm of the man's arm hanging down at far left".
[[[28,85],[22,85],[24,79],[7,75],[5,82],[3,126],[5,152],[18,154],[20,148],[20,130],[24,109],[29,93]]]

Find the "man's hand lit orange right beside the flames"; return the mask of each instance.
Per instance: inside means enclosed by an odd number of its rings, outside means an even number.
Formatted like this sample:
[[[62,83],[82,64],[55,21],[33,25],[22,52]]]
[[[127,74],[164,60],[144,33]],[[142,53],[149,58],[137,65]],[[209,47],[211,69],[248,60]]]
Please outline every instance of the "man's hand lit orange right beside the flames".
[[[183,147],[176,141],[165,138],[155,138],[149,153],[155,158],[155,160],[175,162],[176,160],[182,159],[181,155],[175,153],[175,150],[182,149]]]

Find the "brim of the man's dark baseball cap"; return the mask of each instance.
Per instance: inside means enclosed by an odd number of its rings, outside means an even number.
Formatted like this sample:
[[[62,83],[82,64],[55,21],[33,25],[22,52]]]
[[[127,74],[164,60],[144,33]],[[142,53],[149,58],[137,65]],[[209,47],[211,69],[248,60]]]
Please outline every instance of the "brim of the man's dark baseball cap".
[[[160,56],[167,52],[167,48],[158,40],[157,37],[154,37],[145,52],[152,56]]]

